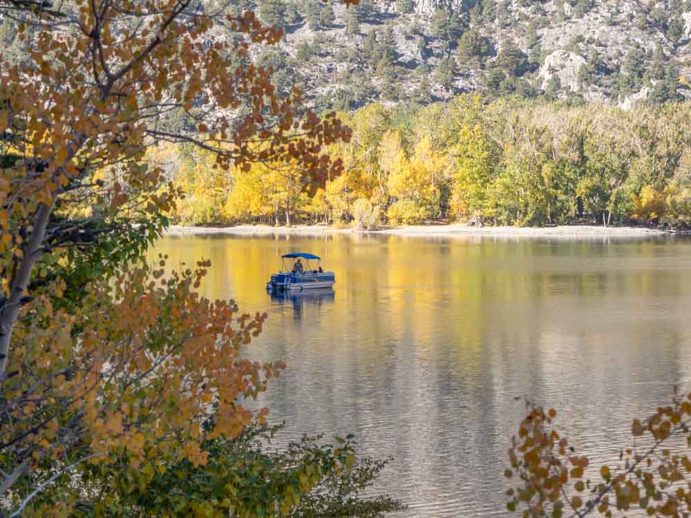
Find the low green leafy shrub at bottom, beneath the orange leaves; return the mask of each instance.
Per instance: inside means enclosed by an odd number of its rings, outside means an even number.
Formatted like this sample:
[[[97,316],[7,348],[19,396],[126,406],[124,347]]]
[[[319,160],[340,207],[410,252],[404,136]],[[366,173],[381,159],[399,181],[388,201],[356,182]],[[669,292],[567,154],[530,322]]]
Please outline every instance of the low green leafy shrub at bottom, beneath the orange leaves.
[[[119,495],[117,508],[107,510],[111,516],[272,516],[278,510],[292,518],[379,518],[403,508],[390,497],[361,495],[388,460],[356,457],[350,436],[336,437],[335,445],[305,436],[274,449],[281,428],[254,423],[234,439],[209,441],[205,466],[182,459],[135,478],[100,479],[96,471],[85,481]]]

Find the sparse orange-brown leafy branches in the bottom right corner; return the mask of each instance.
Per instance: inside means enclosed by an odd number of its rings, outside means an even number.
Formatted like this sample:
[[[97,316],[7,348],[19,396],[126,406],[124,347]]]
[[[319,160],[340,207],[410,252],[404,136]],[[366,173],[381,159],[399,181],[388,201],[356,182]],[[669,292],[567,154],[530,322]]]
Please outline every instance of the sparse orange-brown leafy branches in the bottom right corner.
[[[593,466],[556,430],[556,411],[528,403],[513,437],[505,475],[514,481],[507,508],[524,517],[605,517],[643,512],[681,518],[691,512],[691,393],[674,391],[670,405],[635,419],[632,446],[617,466]]]

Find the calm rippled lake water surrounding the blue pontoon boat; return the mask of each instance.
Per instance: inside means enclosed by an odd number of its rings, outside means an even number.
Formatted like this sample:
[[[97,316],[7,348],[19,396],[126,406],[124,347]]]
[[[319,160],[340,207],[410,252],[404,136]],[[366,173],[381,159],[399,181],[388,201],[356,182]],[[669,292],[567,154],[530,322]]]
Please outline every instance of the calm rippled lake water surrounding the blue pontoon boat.
[[[210,259],[206,296],[267,311],[248,355],[287,363],[261,401],[284,439],[354,432],[395,457],[375,491],[404,516],[508,514],[515,396],[556,407],[580,452],[611,461],[634,417],[691,390],[688,239],[184,236],[156,251]],[[266,293],[291,251],[322,256],[333,294]]]

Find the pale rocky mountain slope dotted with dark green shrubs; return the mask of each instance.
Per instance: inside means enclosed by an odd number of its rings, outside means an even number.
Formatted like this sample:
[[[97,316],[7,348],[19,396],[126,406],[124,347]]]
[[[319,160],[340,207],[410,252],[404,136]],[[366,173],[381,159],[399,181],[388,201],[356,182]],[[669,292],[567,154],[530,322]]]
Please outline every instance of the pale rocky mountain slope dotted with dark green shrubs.
[[[259,0],[283,26],[258,49],[317,108],[480,90],[627,107],[691,97],[691,0]]]

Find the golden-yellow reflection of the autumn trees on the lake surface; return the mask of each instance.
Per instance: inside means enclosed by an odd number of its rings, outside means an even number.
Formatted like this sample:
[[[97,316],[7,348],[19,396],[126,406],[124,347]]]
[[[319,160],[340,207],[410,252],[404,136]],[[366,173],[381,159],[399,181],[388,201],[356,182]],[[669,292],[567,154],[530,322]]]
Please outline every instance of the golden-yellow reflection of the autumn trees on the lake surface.
[[[362,343],[354,340],[360,352],[388,350],[396,340],[404,340],[425,358],[435,354],[439,343],[447,343],[453,345],[451,368],[472,374],[477,365],[468,358],[484,354],[488,343],[537,340],[536,329],[560,332],[551,319],[569,320],[571,316],[564,313],[574,308],[596,318],[598,300],[603,298],[616,305],[619,299],[688,292],[689,280],[680,282],[677,275],[659,274],[652,259],[661,257],[660,246],[668,245],[641,242],[598,247],[591,242],[437,241],[336,234],[291,236],[290,240],[165,238],[156,249],[168,253],[171,264],[208,258],[212,267],[202,292],[216,298],[242,294],[239,302],[249,311],[267,307],[264,283],[281,267],[283,253],[316,253],[325,268],[336,272],[337,280],[334,304],[326,316],[319,317],[324,320],[319,320],[314,347],[320,354],[332,354],[333,347],[341,347],[348,336],[365,338]],[[651,267],[628,268],[627,260],[632,258],[637,265]],[[623,267],[612,268],[614,263]],[[559,309],[561,303],[551,302],[555,300],[571,303]],[[305,318],[310,315],[305,312]],[[269,316],[267,325],[285,332],[274,318],[279,317]],[[604,321],[601,325],[609,329]],[[343,350],[342,354],[354,352]]]

